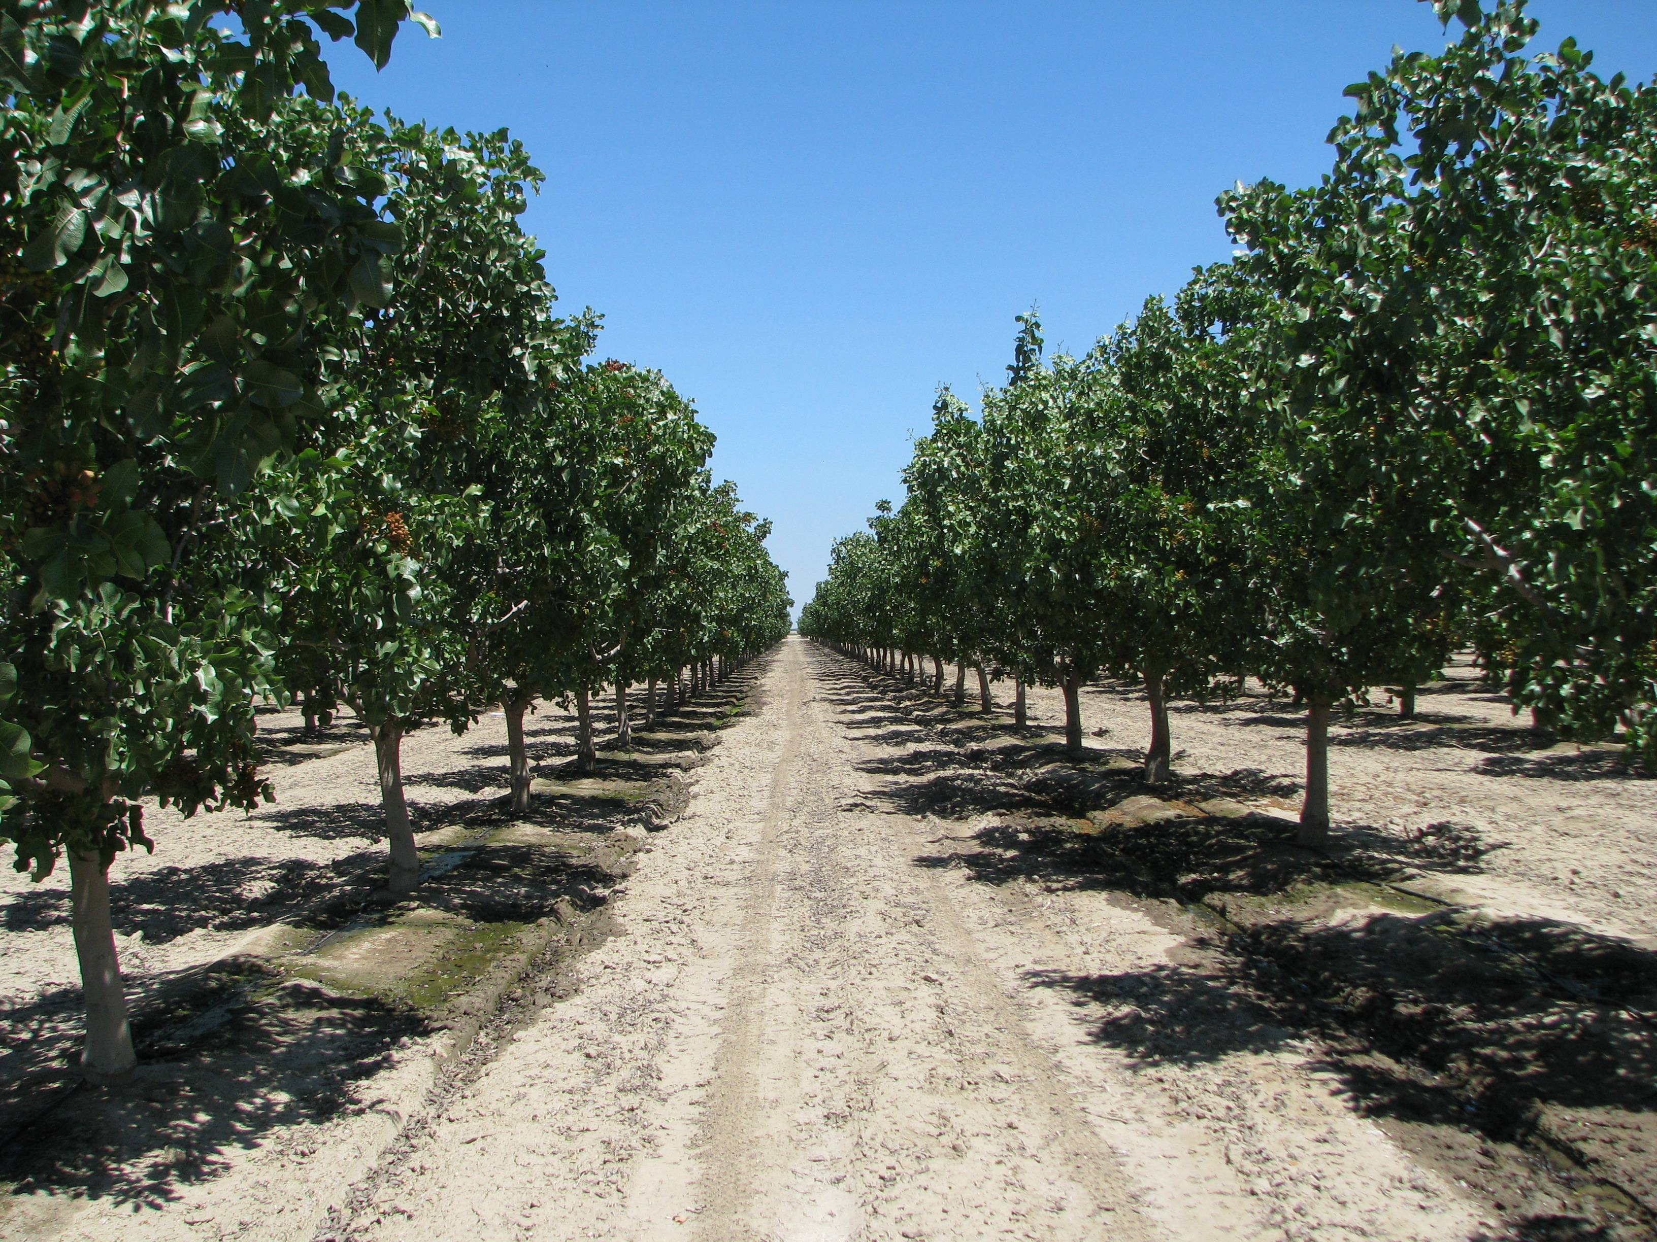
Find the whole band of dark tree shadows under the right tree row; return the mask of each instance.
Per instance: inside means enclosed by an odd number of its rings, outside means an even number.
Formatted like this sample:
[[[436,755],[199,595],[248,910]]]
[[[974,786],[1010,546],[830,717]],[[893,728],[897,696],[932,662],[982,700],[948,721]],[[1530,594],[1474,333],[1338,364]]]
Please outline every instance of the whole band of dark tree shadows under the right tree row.
[[[1304,724],[1253,704],[1215,710]],[[1473,732],[1491,745],[1531,742],[1524,730],[1392,725],[1379,714],[1367,724],[1392,737],[1408,730],[1461,742]],[[944,747],[882,757],[863,770],[895,780],[868,790],[862,805],[989,820],[969,835],[941,836],[956,848],[918,856],[918,866],[958,868],[994,886],[1029,881],[1168,901],[1150,907],[1153,917],[1193,937],[1176,964],[1026,974],[1031,987],[1085,1009],[1100,1045],[1147,1066],[1317,1047],[1354,1108],[1403,1126],[1389,1133],[1415,1134],[1412,1151],[1506,1214],[1493,1230],[1503,1242],[1652,1235],[1649,1222],[1635,1220],[1639,1209],[1604,1199],[1601,1182],[1657,1202],[1650,952],[1546,919],[1475,919],[1390,886],[1405,868],[1478,869],[1503,843],[1470,825],[1349,826],[1329,854],[1301,850],[1296,825],[1264,813],[1107,820],[1079,831],[1077,810],[1137,793],[1183,803],[1286,800],[1299,782],[1239,770],[1148,790],[1130,773],[1070,773],[1065,782],[1060,768],[1021,778],[999,757]],[[1576,1129],[1563,1133],[1561,1118]],[[1581,1164],[1548,1163],[1521,1146],[1533,1134]],[[1558,1211],[1559,1192],[1566,1211]]]

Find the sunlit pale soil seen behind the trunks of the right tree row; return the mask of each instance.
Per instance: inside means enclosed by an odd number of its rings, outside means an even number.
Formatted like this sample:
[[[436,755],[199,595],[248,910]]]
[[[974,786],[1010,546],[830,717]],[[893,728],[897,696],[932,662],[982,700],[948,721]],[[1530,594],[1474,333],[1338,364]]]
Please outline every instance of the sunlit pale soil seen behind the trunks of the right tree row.
[[[1500,914],[1543,914],[1657,949],[1657,780],[1614,749],[1554,742],[1514,717],[1465,659],[1400,720],[1385,692],[1331,727],[1331,815],[1339,828],[1399,840],[1453,838],[1478,869],[1457,896]],[[1256,687],[1258,689],[1258,687]],[[998,700],[1009,687],[994,687]],[[1004,702],[1001,702],[1004,705]],[[1032,725],[1062,730],[1057,691],[1032,689]],[[1254,768],[1299,788],[1304,722],[1287,699],[1253,692],[1229,704],[1171,704],[1175,770]],[[1142,692],[1082,691],[1089,742],[1142,755],[1150,715]],[[1104,730],[1102,734],[1099,730]],[[1292,798],[1291,798],[1292,805]]]

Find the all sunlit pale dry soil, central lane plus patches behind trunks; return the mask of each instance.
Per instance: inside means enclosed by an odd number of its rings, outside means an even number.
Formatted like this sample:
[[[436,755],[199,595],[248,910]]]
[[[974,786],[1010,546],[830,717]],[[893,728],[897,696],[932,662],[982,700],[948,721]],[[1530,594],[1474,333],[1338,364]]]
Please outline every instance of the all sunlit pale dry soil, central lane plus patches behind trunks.
[[[1036,696],[1039,717],[1052,707]],[[1490,707],[1473,724],[1508,727]],[[1094,691],[1087,710],[1110,730],[1100,745],[1132,750],[1130,692]],[[1287,788],[1292,724],[1283,704],[1181,712],[1178,767],[1258,768],[1263,788],[1274,775]],[[1389,747],[1394,734],[1367,727],[1382,744],[1337,745],[1344,830],[1408,838],[1466,820],[1473,836],[1455,840],[1500,831],[1511,843],[1488,858],[1514,859],[1453,873],[1478,901],[1650,934],[1629,899],[1654,856],[1650,783],[1569,780],[1599,775],[1574,750],[1548,767],[1556,752],[1519,747],[1531,767],[1493,772],[1490,753],[1513,749],[1447,757],[1460,747]],[[456,757],[477,737],[416,737],[464,785]],[[1377,1123],[1316,1035],[1193,965],[1175,903],[963,861],[1004,816],[928,808],[936,765],[893,760],[928,755],[938,730],[850,661],[789,639],[722,739],[688,816],[651,835],[613,898],[615,934],[575,964],[577,990],[497,1028],[464,1073],[446,1078],[409,1040],[353,1085],[355,1106],[272,1124],[177,1194],[55,1199],[36,1184],[25,1197],[53,1211],[13,1211],[0,1235],[1639,1235],[1581,1219],[1544,1172],[1518,1224],[1460,1184],[1430,1143]],[[341,758],[297,768],[316,805],[330,778],[336,798],[361,797],[371,765]],[[282,835],[257,845],[260,858],[295,850]],[[51,932],[66,942],[61,926],[28,934]],[[46,944],[38,962],[63,952]],[[17,987],[38,989],[38,962],[17,967]],[[1206,989],[1200,1020],[1160,1045],[1114,1037],[1168,1012],[1148,994],[1170,979]]]

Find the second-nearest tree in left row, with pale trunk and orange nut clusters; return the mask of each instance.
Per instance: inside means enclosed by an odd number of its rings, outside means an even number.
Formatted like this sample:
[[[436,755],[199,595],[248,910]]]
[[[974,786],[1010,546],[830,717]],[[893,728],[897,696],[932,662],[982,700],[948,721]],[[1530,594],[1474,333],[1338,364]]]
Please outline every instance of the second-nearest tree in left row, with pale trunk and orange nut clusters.
[[[374,742],[388,886],[406,893],[419,859],[403,737],[432,717],[472,717],[472,634],[456,624],[461,583],[446,563],[497,542],[482,480],[512,467],[490,426],[547,426],[535,359],[557,328],[542,252],[519,227],[540,179],[519,142],[338,111],[346,151],[388,185],[403,243],[381,305],[335,333],[318,447],[267,472],[257,490],[273,522],[250,530],[283,545],[273,585],[293,662],[307,676],[320,664]],[[292,533],[275,525],[282,513]],[[288,545],[295,555],[280,555]]]

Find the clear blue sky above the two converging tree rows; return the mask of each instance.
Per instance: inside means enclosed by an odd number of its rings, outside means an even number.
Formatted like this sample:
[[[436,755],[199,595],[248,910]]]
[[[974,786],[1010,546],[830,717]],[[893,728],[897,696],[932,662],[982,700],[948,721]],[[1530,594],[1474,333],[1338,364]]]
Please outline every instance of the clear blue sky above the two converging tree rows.
[[[424,7],[442,40],[406,28],[379,75],[341,48],[336,83],[524,139],[563,306],[696,399],[797,601],[901,497],[936,386],[1002,378],[1016,313],[1085,349],[1229,253],[1220,190],[1314,181],[1341,89],[1443,45],[1417,0]],[[1543,48],[1657,70],[1652,0],[1529,12]]]

